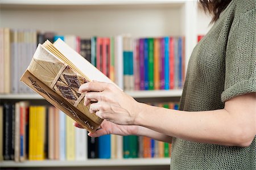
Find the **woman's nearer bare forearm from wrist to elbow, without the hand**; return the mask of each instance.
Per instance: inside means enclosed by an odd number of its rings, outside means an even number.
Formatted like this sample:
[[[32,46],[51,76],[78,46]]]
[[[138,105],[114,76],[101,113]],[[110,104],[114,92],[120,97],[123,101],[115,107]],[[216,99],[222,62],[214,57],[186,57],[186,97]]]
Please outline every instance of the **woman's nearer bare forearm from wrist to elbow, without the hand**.
[[[241,108],[239,105],[238,107]],[[253,139],[251,137],[255,135],[253,111],[240,113],[240,108],[238,108],[233,113],[226,109],[184,112],[152,107],[142,103],[139,104],[139,108],[140,112],[135,118],[135,125],[188,141],[226,146],[247,146]],[[247,118],[245,118],[245,114],[248,114]],[[247,135],[248,133],[250,135]]]

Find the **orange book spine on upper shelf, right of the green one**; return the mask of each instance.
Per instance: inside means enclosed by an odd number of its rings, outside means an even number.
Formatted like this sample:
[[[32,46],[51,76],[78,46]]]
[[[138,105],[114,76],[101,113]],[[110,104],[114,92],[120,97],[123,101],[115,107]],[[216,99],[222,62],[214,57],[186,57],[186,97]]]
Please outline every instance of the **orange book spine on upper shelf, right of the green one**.
[[[159,39],[154,39],[154,89],[160,89],[160,72],[159,72],[159,53],[160,44]]]

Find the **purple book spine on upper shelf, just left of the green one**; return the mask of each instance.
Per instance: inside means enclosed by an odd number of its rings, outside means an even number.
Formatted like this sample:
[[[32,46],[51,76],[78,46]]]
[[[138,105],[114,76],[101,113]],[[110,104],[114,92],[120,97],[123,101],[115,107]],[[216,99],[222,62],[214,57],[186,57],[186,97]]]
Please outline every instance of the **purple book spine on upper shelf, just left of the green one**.
[[[144,85],[144,39],[139,39],[139,74],[140,74],[140,90],[145,90]]]

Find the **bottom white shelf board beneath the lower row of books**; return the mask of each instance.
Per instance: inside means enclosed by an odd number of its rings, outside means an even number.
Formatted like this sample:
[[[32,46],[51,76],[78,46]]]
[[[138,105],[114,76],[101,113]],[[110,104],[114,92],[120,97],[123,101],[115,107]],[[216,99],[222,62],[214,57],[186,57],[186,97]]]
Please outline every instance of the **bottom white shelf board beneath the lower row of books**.
[[[145,166],[170,165],[170,158],[143,158],[143,159],[92,159],[85,161],[4,161],[0,167],[115,167],[115,166]]]

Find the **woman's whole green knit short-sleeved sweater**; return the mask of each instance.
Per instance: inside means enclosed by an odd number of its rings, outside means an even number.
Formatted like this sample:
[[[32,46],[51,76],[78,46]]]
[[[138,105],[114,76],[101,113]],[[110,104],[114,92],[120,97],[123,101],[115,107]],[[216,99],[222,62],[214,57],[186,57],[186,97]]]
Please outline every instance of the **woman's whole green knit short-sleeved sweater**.
[[[180,110],[222,109],[226,100],[256,92],[255,3],[230,2],[196,45],[189,59]],[[255,142],[254,138],[249,147],[238,147],[174,138],[171,170],[256,169]]]

